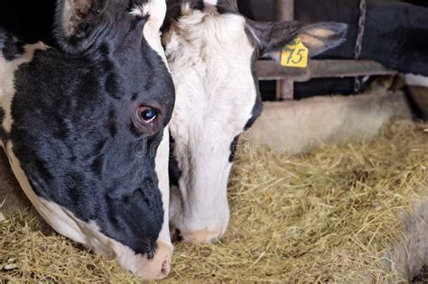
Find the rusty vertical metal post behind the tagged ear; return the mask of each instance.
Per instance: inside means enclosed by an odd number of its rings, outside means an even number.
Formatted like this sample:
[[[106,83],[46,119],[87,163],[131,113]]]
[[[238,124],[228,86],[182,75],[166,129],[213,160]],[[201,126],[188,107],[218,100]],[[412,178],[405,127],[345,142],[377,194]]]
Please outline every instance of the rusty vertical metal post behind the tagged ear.
[[[276,0],[276,17],[278,21],[294,20],[294,0]],[[294,98],[293,79],[278,80],[276,83],[276,100],[292,100]]]

